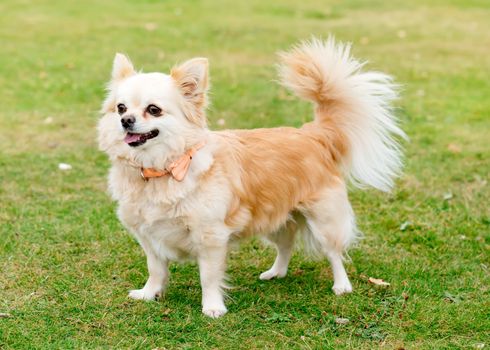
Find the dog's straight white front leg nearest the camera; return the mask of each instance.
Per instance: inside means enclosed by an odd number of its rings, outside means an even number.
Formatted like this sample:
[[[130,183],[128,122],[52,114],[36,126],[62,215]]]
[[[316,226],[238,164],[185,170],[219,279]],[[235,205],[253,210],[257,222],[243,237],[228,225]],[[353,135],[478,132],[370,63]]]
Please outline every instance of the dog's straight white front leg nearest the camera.
[[[223,300],[227,244],[203,246],[199,251],[198,264],[202,288],[202,312],[218,318],[228,311]]]

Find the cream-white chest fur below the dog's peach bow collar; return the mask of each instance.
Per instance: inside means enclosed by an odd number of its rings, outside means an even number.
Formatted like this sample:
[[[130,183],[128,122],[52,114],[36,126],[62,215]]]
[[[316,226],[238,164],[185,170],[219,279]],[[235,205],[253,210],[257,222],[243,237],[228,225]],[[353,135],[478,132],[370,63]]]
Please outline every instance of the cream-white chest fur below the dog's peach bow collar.
[[[119,219],[145,251],[160,258],[192,258],[204,239],[229,235],[223,222],[230,193],[219,178],[202,186],[199,175],[210,163],[203,167],[196,158],[182,182],[170,177],[145,182],[138,169],[125,165],[111,169],[109,188],[119,203]]]

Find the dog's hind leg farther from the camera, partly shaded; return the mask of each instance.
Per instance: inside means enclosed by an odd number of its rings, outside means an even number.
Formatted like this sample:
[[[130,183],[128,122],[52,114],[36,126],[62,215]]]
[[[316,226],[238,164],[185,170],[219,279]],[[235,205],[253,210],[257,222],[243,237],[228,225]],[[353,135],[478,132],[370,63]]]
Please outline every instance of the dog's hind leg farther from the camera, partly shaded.
[[[283,278],[288,272],[289,260],[293,253],[294,236],[298,230],[295,221],[290,220],[286,226],[266,237],[268,241],[275,244],[277,250],[276,260],[272,267],[260,274],[261,280],[270,280],[272,278]]]

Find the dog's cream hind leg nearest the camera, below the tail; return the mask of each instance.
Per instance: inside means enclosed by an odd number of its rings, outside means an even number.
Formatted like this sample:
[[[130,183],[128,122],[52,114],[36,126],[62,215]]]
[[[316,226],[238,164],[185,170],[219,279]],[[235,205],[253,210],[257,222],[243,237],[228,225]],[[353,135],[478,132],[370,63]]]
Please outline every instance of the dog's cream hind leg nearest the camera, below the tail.
[[[303,211],[311,234],[310,245],[330,261],[334,284],[332,290],[341,295],[352,292],[343,264],[343,254],[356,238],[354,213],[344,185],[330,187]]]

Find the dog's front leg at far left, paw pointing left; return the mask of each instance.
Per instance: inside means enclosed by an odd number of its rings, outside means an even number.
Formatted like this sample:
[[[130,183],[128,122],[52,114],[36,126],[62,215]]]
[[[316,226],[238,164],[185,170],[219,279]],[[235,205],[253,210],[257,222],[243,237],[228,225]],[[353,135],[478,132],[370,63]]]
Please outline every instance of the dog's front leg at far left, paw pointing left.
[[[168,282],[168,261],[159,259],[151,248],[147,248],[143,246],[150,276],[142,289],[129,292],[129,297],[133,299],[155,300],[162,296]]]

